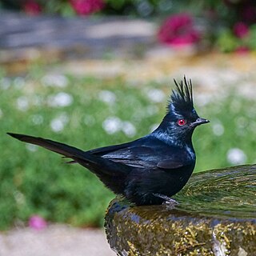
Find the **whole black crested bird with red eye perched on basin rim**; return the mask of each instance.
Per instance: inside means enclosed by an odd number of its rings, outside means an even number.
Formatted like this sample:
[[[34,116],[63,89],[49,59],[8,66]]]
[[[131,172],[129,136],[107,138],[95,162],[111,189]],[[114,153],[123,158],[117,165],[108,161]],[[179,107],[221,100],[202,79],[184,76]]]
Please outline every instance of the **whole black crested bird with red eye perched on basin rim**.
[[[8,134],[71,158],[96,174],[115,194],[138,206],[161,204],[190,178],[195,165],[194,128],[209,122],[194,110],[191,80],[174,83],[161,124],[133,142],[83,151],[45,138]]]

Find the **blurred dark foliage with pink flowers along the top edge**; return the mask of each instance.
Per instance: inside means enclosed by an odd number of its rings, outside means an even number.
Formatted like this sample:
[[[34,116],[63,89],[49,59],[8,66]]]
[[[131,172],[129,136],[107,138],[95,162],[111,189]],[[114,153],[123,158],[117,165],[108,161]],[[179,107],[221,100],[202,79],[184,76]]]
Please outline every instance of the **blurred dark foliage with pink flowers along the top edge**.
[[[174,37],[185,34],[186,37],[186,33],[190,34],[193,30],[200,34],[200,40],[188,41],[186,45],[193,44],[199,50],[243,53],[256,49],[254,0],[0,0],[0,8],[22,10],[34,15],[88,16],[96,13],[150,19],[157,17],[160,20],[171,18],[174,14],[187,14],[194,22],[185,29],[181,26],[173,31],[171,25],[162,23],[160,30],[164,28],[166,36],[160,42],[175,46],[168,39],[170,34]]]

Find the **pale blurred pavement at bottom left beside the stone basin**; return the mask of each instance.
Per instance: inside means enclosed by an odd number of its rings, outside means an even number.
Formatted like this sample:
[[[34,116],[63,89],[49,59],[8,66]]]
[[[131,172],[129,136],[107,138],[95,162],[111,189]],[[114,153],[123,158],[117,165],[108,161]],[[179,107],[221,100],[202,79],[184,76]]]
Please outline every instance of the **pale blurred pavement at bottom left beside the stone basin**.
[[[114,256],[104,230],[52,225],[0,233],[1,256]]]

